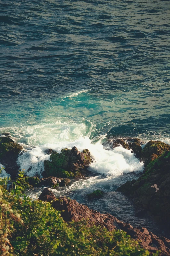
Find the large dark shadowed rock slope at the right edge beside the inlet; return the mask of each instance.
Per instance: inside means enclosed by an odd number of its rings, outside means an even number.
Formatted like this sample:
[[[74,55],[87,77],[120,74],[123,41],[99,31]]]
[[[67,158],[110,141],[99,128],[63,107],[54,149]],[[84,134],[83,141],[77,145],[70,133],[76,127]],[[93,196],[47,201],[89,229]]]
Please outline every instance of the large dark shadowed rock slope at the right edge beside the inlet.
[[[151,213],[170,228],[170,151],[151,161],[137,180],[127,181],[118,191],[133,199],[135,206]]]

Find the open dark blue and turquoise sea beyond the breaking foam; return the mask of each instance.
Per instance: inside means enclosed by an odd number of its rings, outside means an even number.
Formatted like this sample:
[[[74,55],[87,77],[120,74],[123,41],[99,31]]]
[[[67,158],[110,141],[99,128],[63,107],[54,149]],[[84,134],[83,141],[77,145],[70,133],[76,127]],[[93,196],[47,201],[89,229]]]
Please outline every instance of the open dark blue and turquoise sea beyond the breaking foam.
[[[71,107],[70,118],[109,134],[169,135],[169,1],[0,6],[2,127],[68,116]],[[59,104],[83,89],[91,89],[83,102]]]

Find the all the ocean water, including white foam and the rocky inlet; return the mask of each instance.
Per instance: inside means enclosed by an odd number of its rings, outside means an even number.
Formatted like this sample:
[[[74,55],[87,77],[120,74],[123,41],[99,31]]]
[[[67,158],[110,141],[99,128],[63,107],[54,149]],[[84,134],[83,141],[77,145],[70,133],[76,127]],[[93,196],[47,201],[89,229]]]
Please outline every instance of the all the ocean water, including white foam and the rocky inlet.
[[[143,163],[102,143],[139,137],[170,144],[169,56],[169,1],[1,0],[0,133],[24,146],[21,169],[41,176],[46,149],[88,148],[95,175],[55,194],[150,228],[152,220],[135,217],[116,192]],[[88,202],[94,189],[108,194]]]

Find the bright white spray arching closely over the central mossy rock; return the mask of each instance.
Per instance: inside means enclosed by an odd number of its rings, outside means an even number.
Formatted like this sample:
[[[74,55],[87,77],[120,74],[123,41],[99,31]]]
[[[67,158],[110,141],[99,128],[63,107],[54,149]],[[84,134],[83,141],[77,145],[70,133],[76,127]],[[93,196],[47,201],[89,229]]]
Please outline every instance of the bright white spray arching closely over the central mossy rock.
[[[88,137],[80,137],[77,140],[70,141],[54,141],[53,144],[47,143],[37,146],[33,149],[26,150],[18,159],[21,169],[24,169],[29,176],[42,175],[44,171],[44,160],[50,160],[47,150],[61,152],[61,149],[77,146],[82,151],[88,148],[93,159],[89,170],[105,175],[119,176],[124,172],[143,171],[143,162],[140,162],[131,150],[117,147],[113,150],[106,150],[101,142],[95,144]]]

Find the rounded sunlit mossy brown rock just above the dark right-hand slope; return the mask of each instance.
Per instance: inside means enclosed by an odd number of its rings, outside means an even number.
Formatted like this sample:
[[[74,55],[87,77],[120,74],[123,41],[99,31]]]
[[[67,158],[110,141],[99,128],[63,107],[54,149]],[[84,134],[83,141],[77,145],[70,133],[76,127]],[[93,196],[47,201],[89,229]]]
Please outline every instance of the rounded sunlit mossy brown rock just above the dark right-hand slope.
[[[170,145],[161,141],[149,141],[142,150],[141,161],[147,166],[149,162],[161,156],[165,150],[170,150]]]

